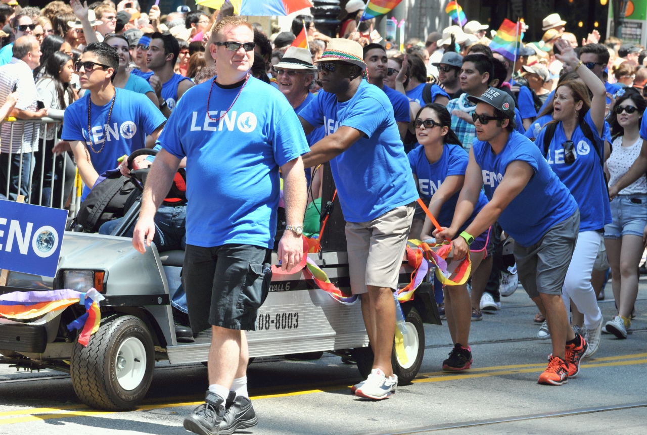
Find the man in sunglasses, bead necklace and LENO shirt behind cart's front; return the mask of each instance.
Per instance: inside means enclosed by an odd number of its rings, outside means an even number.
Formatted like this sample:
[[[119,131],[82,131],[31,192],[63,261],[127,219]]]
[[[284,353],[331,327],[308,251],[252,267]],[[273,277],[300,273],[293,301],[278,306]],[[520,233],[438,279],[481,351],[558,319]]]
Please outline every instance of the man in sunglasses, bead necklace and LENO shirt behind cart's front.
[[[166,118],[146,95],[113,86],[111,77],[119,67],[114,47],[89,44],[75,67],[82,89],[90,92],[65,109],[61,138],[66,142],[58,143],[54,151],[63,151],[69,142],[85,183],[85,199],[102,173],[116,169],[118,158],[146,147],[147,135],[153,147]]]

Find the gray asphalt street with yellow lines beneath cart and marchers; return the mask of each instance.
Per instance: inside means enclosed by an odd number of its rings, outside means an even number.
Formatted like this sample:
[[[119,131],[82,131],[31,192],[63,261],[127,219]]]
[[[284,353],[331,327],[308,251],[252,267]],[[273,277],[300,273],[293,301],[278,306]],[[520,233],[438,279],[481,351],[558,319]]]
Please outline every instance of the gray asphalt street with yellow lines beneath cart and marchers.
[[[615,315],[611,282],[600,302]],[[600,350],[562,387],[536,383],[550,341],[536,338],[536,308],[523,288],[502,309],[472,323],[474,365],[441,371],[452,345],[446,326],[425,325],[419,376],[390,399],[351,396],[355,365],[324,354],[318,361],[273,358],[248,368],[259,425],[245,433],[278,434],[647,434],[647,277],[641,279],[633,334],[603,335]],[[42,378],[42,379],[39,379]],[[184,415],[207,388],[202,365],[158,363],[148,396],[131,412],[82,405],[65,374],[0,366],[0,434],[183,434]]]

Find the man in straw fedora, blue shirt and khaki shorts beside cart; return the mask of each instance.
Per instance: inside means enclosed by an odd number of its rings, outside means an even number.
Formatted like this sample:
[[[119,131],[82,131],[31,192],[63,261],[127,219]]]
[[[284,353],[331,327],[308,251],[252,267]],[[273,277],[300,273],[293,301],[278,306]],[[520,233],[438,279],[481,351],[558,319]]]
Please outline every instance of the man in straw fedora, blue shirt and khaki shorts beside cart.
[[[300,112],[305,133],[326,136],[303,157],[306,166],[330,161],[346,220],[351,290],[373,349],[373,370],[351,389],[386,399],[397,386],[391,367],[397,286],[418,191],[386,94],[365,81],[362,47],[332,39],[316,61],[323,91]]]

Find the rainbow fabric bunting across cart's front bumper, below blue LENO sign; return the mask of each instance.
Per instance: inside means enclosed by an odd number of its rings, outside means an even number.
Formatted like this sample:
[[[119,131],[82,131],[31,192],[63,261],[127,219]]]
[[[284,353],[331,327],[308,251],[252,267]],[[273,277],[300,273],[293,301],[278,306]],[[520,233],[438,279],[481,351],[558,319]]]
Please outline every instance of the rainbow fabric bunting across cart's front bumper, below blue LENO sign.
[[[101,310],[99,302],[105,297],[90,289],[87,293],[74,290],[47,290],[45,292],[12,292],[0,295],[0,316],[6,319],[36,321],[28,324],[41,325],[54,319],[65,308],[83,301],[85,314],[67,325],[68,330],[81,330],[79,343],[87,346],[91,335],[99,330]]]

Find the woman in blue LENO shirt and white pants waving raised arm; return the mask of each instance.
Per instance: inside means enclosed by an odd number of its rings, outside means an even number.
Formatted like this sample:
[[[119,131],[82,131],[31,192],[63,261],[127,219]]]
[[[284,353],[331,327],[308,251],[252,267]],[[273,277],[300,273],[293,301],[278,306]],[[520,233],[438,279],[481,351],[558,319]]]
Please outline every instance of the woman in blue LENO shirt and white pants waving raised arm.
[[[597,257],[604,225],[611,223],[609,194],[604,178],[604,83],[577,58],[573,47],[564,39],[555,46],[556,55],[578,74],[581,80],[565,80],[555,89],[553,121],[537,135],[535,143],[553,172],[571,191],[580,209],[580,228],[575,251],[562,287],[566,312],[570,301],[584,314],[584,337],[573,331],[566,334],[566,362],[569,377],[579,371],[582,357],[595,354],[600,345],[602,312],[591,285],[591,273]],[[593,98],[589,97],[589,92]],[[554,337],[553,343],[564,337]]]

